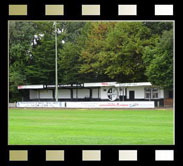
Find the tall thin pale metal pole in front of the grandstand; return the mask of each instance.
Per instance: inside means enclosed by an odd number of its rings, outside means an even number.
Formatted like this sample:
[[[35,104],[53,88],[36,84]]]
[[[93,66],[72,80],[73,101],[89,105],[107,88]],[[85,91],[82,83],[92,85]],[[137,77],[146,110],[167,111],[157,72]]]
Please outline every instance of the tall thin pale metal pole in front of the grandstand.
[[[58,71],[57,71],[57,27],[56,21],[55,24],[55,98],[56,102],[58,102]]]

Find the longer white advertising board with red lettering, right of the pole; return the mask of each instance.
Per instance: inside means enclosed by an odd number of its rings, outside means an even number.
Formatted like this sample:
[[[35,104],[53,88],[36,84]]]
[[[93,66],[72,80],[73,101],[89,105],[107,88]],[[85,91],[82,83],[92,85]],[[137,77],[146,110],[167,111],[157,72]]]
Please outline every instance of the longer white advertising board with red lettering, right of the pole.
[[[67,108],[154,108],[154,101],[66,102]]]

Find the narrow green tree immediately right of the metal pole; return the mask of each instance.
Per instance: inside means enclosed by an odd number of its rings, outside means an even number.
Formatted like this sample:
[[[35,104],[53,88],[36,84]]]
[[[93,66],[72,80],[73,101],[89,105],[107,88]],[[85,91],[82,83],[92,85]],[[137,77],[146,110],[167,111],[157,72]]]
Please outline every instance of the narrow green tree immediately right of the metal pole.
[[[62,28],[65,32],[64,44],[58,51],[58,80],[60,84],[83,82],[79,57],[81,44],[78,43],[85,22],[66,22]]]

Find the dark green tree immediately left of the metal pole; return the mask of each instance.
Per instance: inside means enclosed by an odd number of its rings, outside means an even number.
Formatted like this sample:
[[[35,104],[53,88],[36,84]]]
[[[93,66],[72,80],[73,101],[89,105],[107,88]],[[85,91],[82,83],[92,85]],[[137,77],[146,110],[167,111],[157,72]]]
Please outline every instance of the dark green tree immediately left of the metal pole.
[[[27,80],[31,84],[55,83],[55,28],[53,22],[38,22],[41,38],[32,48],[30,65],[26,68]],[[63,34],[58,35],[58,49],[62,48]]]

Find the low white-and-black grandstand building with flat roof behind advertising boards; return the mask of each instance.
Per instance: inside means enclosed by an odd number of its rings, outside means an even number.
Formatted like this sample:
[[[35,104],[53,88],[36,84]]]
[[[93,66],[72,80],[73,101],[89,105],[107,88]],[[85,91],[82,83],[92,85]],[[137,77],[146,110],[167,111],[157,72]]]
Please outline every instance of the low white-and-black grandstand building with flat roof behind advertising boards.
[[[22,101],[55,101],[55,85],[20,85]],[[98,82],[58,85],[59,101],[155,101],[163,106],[172,97],[168,91],[150,82]]]

